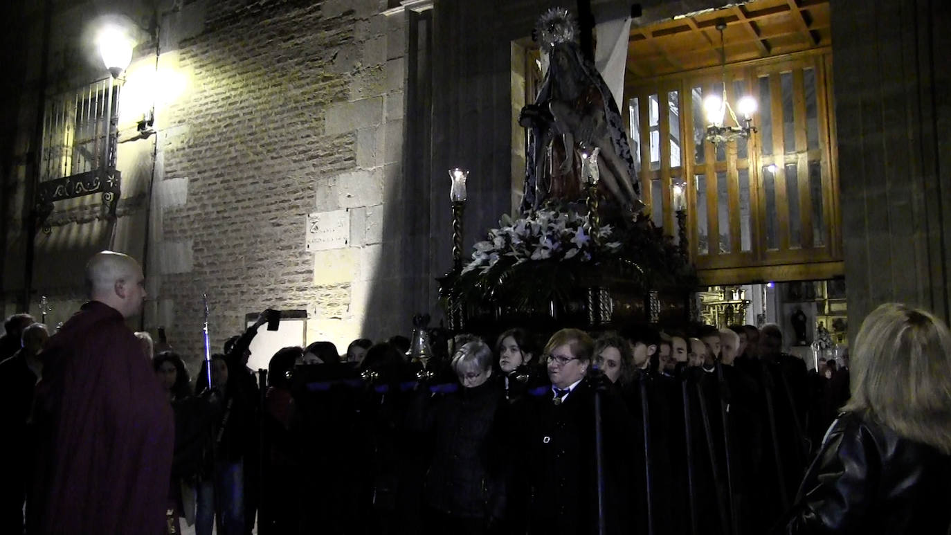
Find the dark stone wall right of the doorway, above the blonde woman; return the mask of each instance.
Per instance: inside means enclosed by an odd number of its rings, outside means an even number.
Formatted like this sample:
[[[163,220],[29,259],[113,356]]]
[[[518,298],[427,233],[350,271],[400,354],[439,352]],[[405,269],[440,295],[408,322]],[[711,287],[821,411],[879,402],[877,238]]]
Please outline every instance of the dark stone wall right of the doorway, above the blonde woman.
[[[887,301],[949,318],[951,6],[832,0],[849,334]]]

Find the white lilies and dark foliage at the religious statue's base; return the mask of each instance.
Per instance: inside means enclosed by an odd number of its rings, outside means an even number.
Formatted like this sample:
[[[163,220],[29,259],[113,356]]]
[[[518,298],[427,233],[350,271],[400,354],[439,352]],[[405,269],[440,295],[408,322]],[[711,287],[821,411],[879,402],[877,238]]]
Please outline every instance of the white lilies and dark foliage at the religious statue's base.
[[[581,288],[620,284],[638,293],[689,286],[695,276],[650,220],[592,225],[583,205],[553,201],[521,218],[503,215],[440,283],[444,306],[517,314],[569,306]]]

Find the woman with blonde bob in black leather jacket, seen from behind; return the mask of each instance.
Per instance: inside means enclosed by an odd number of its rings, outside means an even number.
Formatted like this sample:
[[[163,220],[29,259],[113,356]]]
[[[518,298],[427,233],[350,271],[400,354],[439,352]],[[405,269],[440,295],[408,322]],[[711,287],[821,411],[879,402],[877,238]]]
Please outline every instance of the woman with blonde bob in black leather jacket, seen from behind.
[[[851,353],[852,398],[773,532],[951,532],[951,333],[887,303]]]

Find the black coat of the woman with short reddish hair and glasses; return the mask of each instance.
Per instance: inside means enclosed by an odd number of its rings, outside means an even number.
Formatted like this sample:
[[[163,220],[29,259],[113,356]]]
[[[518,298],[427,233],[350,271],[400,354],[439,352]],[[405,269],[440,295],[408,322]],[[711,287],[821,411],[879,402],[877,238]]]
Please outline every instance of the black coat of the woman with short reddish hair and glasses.
[[[597,530],[594,458],[594,389],[588,379],[558,406],[551,392],[527,396],[519,404],[524,461],[516,466],[531,534],[584,534]],[[602,394],[607,532],[628,533],[631,510],[633,422],[614,392]],[[638,460],[638,462],[642,462]],[[517,520],[516,520],[517,522]]]

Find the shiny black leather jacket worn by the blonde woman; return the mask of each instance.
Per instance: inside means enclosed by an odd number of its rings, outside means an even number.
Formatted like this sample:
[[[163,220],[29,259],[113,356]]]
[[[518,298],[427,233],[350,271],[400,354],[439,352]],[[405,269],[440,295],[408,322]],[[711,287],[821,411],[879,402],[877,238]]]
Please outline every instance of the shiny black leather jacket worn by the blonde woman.
[[[855,413],[839,416],[773,533],[948,533],[951,455]]]

